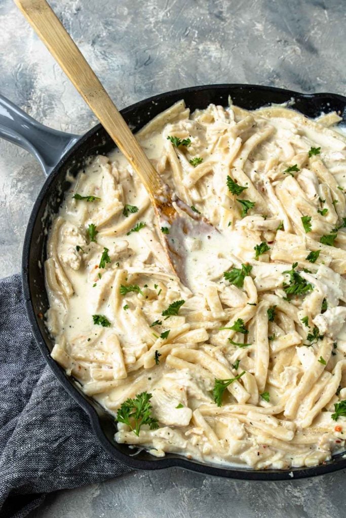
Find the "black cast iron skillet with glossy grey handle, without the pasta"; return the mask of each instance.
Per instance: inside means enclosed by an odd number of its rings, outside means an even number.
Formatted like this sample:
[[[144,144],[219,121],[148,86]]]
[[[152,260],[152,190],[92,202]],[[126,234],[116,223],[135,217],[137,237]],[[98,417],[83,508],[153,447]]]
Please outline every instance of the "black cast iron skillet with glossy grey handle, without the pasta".
[[[322,111],[336,110],[346,121],[346,97],[341,95],[301,94],[243,84],[216,84],[175,90],[143,100],[125,108],[121,113],[135,132],[179,99],[185,99],[186,105],[193,111],[196,108],[206,108],[210,103],[226,106],[229,95],[234,104],[248,109],[260,108],[271,103],[284,103],[293,98],[294,108],[309,117],[316,117]],[[136,450],[131,450],[128,445],[117,444],[113,438],[116,431],[114,419],[95,401],[85,396],[75,381],[66,376],[63,369],[50,357],[53,341],[42,318],[48,309],[43,269],[46,258],[46,231],[51,225],[52,215],[59,210],[64,191],[70,186],[70,182],[66,180],[66,172],[70,171],[72,175],[76,175],[87,157],[108,153],[114,148],[114,143],[100,124],[82,137],[64,134],[38,124],[4,98],[0,98],[0,136],[34,153],[47,175],[27,225],[23,249],[23,291],[33,334],[47,364],[67,392],[88,413],[96,437],[110,455],[137,469],[179,466],[219,477],[250,480],[292,480],[346,468],[346,458],[343,458],[342,454],[317,467],[254,471],[245,467],[201,464],[175,454],[156,458],[143,450],[135,453]]]

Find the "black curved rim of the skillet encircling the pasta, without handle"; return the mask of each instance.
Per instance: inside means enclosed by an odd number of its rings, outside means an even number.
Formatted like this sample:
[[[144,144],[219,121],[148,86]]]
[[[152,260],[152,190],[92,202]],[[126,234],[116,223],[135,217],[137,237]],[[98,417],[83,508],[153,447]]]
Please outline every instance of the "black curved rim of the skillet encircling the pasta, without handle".
[[[176,89],[169,92],[164,92],[161,94],[157,94],[146,99],[143,99],[137,103],[134,103],[131,106],[128,106],[122,110],[120,113],[123,116],[126,116],[128,113],[135,112],[137,109],[143,108],[145,106],[149,106],[150,103],[156,103],[159,100],[164,98],[169,98],[171,96],[181,95],[184,98],[184,94],[193,93],[193,92],[201,92],[203,90],[229,90],[231,95],[232,89],[244,89],[248,92],[254,91],[254,93],[266,92],[266,93],[281,93],[287,96],[287,100],[290,97],[301,98],[301,99],[319,99],[326,98],[335,99],[340,102],[343,107],[346,107],[346,97],[328,92],[321,93],[300,93],[293,90],[286,90],[282,88],[275,87],[267,87],[265,85],[255,85],[255,84],[239,84],[239,83],[225,83],[225,84],[210,84],[210,85],[199,85],[197,87],[187,87],[183,89]],[[322,109],[322,106],[321,106]],[[225,477],[232,479],[240,479],[240,480],[295,480],[300,478],[308,478],[315,477],[325,473],[330,473],[334,471],[338,471],[346,468],[346,458],[343,458],[343,453],[337,454],[334,456],[331,461],[327,461],[319,466],[312,467],[303,467],[303,468],[292,468],[286,470],[276,470],[276,469],[268,469],[268,470],[253,470],[245,467],[222,467],[221,465],[212,465],[206,463],[200,463],[198,461],[189,460],[185,457],[178,456],[175,454],[169,454],[165,457],[158,458],[154,457],[148,460],[141,460],[136,458],[134,455],[125,454],[120,449],[117,448],[117,443],[110,442],[104,430],[101,426],[101,417],[99,416],[96,408],[94,408],[89,402],[87,396],[82,395],[76,388],[76,383],[73,379],[68,378],[65,375],[63,369],[56,363],[52,357],[50,356],[50,351],[47,346],[46,340],[40,332],[39,326],[37,324],[37,318],[33,307],[33,301],[31,296],[30,289],[30,250],[32,244],[32,233],[34,229],[34,225],[37,219],[38,211],[41,205],[44,202],[44,198],[48,193],[51,184],[56,180],[58,173],[63,165],[68,163],[76,150],[81,147],[90,137],[94,136],[98,133],[102,128],[101,124],[97,124],[92,127],[86,134],[81,136],[78,141],[61,157],[59,162],[54,166],[48,178],[44,182],[37,199],[32,208],[32,212],[29,218],[29,222],[27,223],[27,228],[25,232],[24,244],[23,244],[23,255],[22,255],[22,284],[23,284],[23,294],[24,294],[24,303],[27,312],[27,316],[29,318],[30,326],[35,337],[35,340],[40,348],[41,353],[43,354],[46,363],[52,369],[56,378],[63,385],[64,389],[70,394],[77,404],[83,408],[90,419],[90,423],[92,429],[94,431],[95,436],[98,438],[102,447],[115,459],[126,464],[135,469],[164,469],[171,467],[179,467],[184,468],[190,471],[195,471],[198,473],[213,475],[216,477]],[[346,457],[346,456],[345,456]]]

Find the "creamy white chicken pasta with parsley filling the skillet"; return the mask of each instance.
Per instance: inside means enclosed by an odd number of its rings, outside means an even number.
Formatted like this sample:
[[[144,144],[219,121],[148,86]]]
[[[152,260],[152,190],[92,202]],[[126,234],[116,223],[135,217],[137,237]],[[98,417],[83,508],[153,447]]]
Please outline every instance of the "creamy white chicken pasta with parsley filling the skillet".
[[[189,287],[161,244],[169,224],[118,150],[68,178],[45,263],[51,355],[114,416],[118,443],[254,469],[345,449],[339,120],[181,101],[137,133],[223,237],[187,236]]]

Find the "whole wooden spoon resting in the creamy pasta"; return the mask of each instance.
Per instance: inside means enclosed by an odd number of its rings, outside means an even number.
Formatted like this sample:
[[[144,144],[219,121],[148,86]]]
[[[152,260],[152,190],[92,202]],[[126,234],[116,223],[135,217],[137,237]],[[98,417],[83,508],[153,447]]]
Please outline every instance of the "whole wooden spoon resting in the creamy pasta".
[[[140,176],[150,195],[159,229],[169,224],[170,234],[159,232],[169,262],[178,277],[188,284],[184,237],[198,237],[218,231],[205,218],[193,212],[162,181],[100,80],[46,0],[15,0],[15,3]]]

